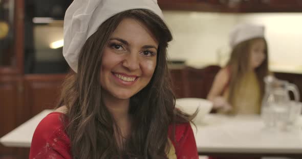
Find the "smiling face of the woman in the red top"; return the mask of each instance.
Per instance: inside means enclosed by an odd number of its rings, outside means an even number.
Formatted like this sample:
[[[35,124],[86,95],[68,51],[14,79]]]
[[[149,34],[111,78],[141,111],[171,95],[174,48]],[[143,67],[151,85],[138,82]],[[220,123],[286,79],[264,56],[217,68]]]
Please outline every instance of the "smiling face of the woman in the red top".
[[[103,50],[101,86],[105,93],[128,99],[151,80],[157,61],[158,41],[145,24],[123,19]]]

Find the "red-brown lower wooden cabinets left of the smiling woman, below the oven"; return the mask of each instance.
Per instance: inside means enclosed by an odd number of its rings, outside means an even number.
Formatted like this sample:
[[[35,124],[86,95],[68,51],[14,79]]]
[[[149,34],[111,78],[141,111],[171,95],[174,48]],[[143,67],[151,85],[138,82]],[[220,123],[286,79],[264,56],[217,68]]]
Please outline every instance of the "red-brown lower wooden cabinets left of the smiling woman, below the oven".
[[[0,137],[45,109],[53,109],[65,74],[0,75]],[[28,158],[29,148],[0,144],[0,158]]]

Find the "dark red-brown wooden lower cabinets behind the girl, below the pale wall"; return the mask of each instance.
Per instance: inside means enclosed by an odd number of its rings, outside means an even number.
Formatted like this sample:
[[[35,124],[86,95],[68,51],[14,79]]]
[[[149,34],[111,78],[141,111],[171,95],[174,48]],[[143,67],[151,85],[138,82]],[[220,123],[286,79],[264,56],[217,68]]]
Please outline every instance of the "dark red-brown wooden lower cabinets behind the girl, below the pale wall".
[[[185,67],[170,70],[176,97],[206,98],[219,70],[220,66],[215,65],[202,69]],[[302,74],[274,72],[274,75],[280,80],[286,80],[297,85],[300,91],[300,101],[302,101]],[[293,94],[291,94],[291,97],[293,97]]]

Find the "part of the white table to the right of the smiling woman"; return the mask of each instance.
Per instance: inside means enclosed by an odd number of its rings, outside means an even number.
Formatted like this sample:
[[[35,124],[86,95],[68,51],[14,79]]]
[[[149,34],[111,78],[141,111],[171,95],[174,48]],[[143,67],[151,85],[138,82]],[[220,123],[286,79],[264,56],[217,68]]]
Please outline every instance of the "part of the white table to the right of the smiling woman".
[[[207,115],[197,125],[195,138],[200,154],[291,155],[302,158],[302,117],[292,131],[264,127],[259,115]]]

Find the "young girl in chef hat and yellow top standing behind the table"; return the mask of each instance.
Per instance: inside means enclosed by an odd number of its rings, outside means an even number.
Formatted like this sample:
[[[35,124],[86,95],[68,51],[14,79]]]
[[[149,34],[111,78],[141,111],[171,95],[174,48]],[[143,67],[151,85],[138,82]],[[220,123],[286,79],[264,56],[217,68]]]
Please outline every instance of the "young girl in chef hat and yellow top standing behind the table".
[[[240,24],[230,33],[231,56],[214,78],[207,99],[227,114],[259,114],[268,75],[264,26]]]

